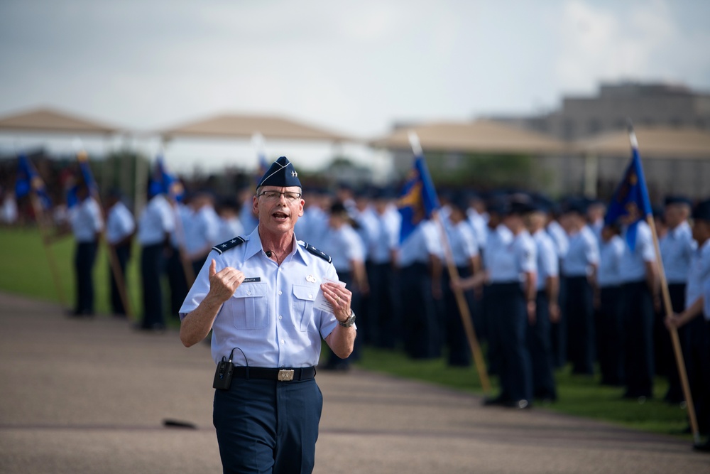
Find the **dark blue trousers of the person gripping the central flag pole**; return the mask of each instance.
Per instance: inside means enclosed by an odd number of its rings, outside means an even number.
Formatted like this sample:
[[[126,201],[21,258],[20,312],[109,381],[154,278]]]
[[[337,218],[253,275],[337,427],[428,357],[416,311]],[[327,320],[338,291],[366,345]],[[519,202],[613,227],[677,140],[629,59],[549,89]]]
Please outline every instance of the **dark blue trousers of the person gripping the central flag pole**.
[[[501,398],[532,399],[532,370],[528,352],[528,315],[520,283],[494,283],[486,297],[494,308],[493,333],[497,340]]]

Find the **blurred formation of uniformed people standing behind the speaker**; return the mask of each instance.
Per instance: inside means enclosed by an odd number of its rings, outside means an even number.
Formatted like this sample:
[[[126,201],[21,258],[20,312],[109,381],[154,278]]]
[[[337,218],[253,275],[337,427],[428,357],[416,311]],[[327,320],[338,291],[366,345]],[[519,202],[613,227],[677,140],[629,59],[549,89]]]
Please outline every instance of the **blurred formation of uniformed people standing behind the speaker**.
[[[121,269],[111,272],[113,312],[126,313],[125,284],[114,276],[125,279],[136,240],[139,327],[163,330],[166,315],[178,318],[210,249],[258,225],[252,196],[249,188],[229,198],[202,189],[177,200],[149,189],[146,207],[134,219],[120,193],[102,199],[102,212],[84,186],[66,218],[77,240],[73,315],[94,313],[91,269],[105,232],[112,264]],[[310,187],[303,198],[295,235],[332,256],[339,278],[354,293],[358,316],[354,354],[332,357],[325,368],[347,370],[363,345],[471,365],[461,292],[486,348],[488,370],[501,382],[501,393],[486,404],[524,409],[535,400],[554,402],[554,372],[563,367],[597,376],[640,402],[652,397],[657,375],[667,377],[665,400],[682,404],[672,327],[678,328],[701,431],[708,431],[710,311],[703,304],[710,301],[709,203],[668,196],[653,222],[630,225],[628,218],[605,222],[606,205],[597,200],[445,190],[438,217],[422,218],[402,239],[393,187]],[[11,215],[7,208],[4,215]],[[653,232],[674,316],[663,305]],[[170,308],[163,308],[164,299]]]

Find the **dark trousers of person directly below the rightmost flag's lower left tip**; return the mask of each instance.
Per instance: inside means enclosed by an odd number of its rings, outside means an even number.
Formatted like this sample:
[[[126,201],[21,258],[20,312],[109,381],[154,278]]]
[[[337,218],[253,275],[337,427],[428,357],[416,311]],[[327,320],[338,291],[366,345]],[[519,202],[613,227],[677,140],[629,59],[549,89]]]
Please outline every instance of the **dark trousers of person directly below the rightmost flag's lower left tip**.
[[[621,286],[603,286],[599,291],[599,370],[601,383],[623,384],[623,320]]]

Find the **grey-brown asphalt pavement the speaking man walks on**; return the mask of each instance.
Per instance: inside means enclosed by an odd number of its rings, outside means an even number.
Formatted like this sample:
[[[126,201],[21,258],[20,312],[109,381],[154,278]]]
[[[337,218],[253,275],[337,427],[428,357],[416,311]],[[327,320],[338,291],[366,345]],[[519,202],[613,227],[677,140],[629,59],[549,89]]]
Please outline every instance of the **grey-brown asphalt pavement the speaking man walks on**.
[[[219,473],[213,375],[207,345],[174,330],[0,293],[0,473]],[[316,378],[316,473],[710,473],[669,436],[358,370]]]

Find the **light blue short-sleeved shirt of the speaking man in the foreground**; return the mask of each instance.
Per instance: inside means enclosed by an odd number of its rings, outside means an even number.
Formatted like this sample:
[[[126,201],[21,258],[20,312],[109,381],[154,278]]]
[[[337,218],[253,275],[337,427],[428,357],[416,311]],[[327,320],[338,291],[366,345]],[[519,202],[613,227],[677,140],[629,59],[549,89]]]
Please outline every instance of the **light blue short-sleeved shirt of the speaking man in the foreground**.
[[[209,291],[209,264],[217,271],[239,269],[246,281],[219,309],[212,325],[212,358],[217,363],[233,348],[244,351],[250,367],[310,367],[320,358],[321,338],[337,325],[332,313],[316,309],[314,301],[325,279],[338,281],[335,267],[295,244],[280,265],[266,257],[258,230],[246,242],[207,257],[180,318],[194,311]],[[234,365],[246,365],[234,351]]]

